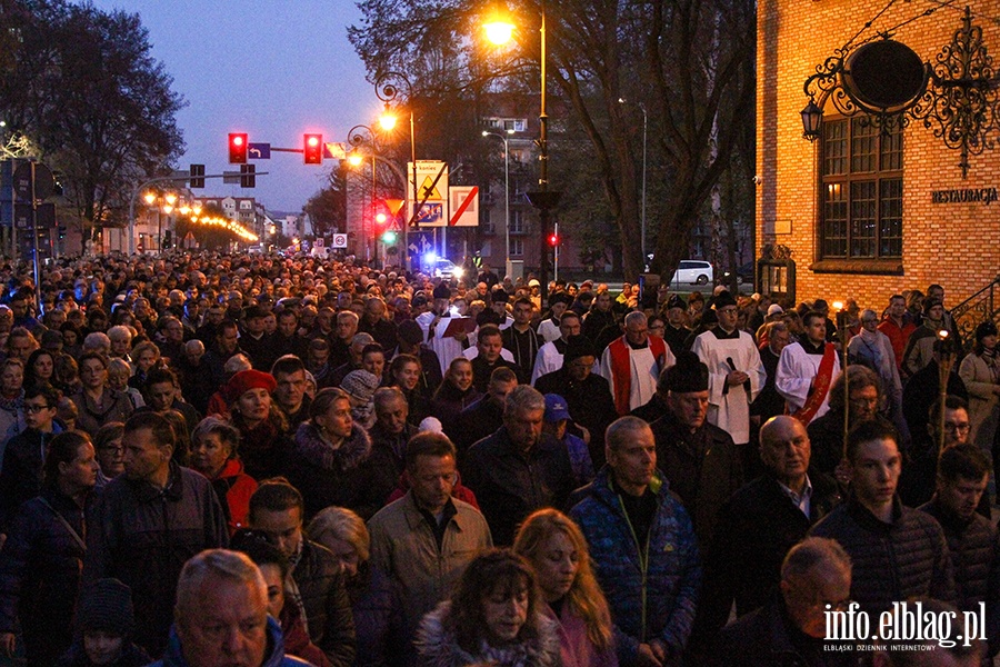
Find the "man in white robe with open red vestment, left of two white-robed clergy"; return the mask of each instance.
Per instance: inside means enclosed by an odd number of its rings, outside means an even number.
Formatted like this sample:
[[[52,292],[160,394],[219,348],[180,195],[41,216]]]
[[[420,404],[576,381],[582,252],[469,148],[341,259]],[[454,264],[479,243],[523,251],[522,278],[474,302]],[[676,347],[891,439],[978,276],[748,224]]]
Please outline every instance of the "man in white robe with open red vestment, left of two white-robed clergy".
[[[657,378],[674,364],[663,339],[649,335],[646,313],[637,310],[627,315],[624,329],[601,356],[601,376],[611,385],[619,415],[649,402],[657,392]]]

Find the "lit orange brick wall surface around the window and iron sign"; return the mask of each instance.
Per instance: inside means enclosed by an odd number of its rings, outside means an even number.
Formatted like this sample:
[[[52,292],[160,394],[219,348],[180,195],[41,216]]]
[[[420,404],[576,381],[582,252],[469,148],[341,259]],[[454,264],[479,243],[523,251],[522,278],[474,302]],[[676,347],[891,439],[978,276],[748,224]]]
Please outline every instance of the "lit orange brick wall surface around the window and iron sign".
[[[1000,16],[996,0],[969,2],[973,13]],[[1000,271],[1000,201],[932,203],[931,192],[998,188],[997,150],[970,156],[967,180],[957,167],[959,151],[949,150],[921,122],[903,132],[902,276],[819,273],[816,230],[820,142],[802,139],[799,112],[807,103],[806,79],[886,6],[884,0],[760,0],[758,4],[757,98],[757,239],[758,256],[767,243],[792,250],[797,263],[797,298],[829,301],[853,297],[863,307],[881,309],[888,297],[906,289],[944,286],[953,306],[984,287]],[[936,7],[931,2],[896,3],[858,41]],[[921,59],[933,60],[960,27],[962,6],[941,8],[900,28],[896,39]],[[973,20],[1000,67],[1000,24]],[[857,42],[856,42],[857,43]],[[827,103],[826,113],[836,110]],[[996,136],[994,136],[996,137]]]

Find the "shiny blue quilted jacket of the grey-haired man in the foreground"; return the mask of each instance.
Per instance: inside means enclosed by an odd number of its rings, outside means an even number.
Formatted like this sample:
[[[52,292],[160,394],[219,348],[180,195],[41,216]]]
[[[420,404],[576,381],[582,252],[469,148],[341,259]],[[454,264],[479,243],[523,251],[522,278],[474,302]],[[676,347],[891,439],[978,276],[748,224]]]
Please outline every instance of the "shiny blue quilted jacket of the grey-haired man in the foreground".
[[[701,564],[691,518],[658,476],[650,484],[657,512],[647,548],[639,552],[632,526],[611,488],[604,466],[570,510],[597,568],[597,577],[611,607],[618,659],[634,664],[639,644],[660,639],[671,655],[683,651],[694,621]]]

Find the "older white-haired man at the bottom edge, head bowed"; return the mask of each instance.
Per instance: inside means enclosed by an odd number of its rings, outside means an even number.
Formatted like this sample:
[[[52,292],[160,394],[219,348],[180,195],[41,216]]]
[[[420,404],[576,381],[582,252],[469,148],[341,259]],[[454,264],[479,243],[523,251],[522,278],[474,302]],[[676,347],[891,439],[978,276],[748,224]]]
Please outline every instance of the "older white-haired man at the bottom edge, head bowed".
[[[284,655],[281,628],[268,617],[268,585],[244,554],[204,550],[184,564],[174,623],[153,667],[309,665]]]

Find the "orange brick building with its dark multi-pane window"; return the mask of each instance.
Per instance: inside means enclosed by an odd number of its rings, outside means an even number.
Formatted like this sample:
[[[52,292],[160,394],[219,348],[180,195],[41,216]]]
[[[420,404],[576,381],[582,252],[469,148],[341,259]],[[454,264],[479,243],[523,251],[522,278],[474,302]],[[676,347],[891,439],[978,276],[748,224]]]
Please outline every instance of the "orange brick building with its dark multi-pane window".
[[[951,307],[1000,270],[1000,150],[970,156],[963,180],[959,151],[922,122],[884,135],[830,100],[822,137],[802,138],[803,83],[859,31],[854,46],[898,27],[894,39],[932,62],[961,27],[963,6],[889,4],[881,16],[886,0],[758,4],[757,250],[791,250],[798,301],[853,297],[880,310],[894,292],[939,282]],[[1000,57],[1000,2],[969,6],[989,54]]]

